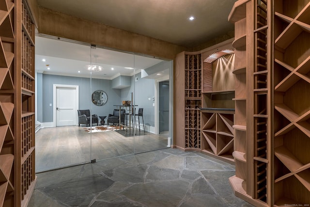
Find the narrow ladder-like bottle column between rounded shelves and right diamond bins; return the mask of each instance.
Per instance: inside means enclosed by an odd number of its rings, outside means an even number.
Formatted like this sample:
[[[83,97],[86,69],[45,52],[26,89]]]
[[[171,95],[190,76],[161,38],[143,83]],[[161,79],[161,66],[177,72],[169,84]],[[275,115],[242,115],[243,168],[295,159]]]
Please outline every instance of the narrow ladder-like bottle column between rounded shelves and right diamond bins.
[[[270,109],[268,101],[271,93],[268,91],[271,70],[267,65],[267,2],[265,0],[255,0],[254,2],[254,71],[253,80],[253,120],[254,125],[249,126],[254,129],[254,198],[267,203],[267,173],[268,157],[267,143],[271,136],[267,126],[270,123]],[[268,11],[269,12],[269,11]],[[268,93],[269,92],[269,93]],[[248,117],[249,118],[249,117]],[[251,136],[250,134],[248,135]],[[269,146],[270,147],[270,146]]]

